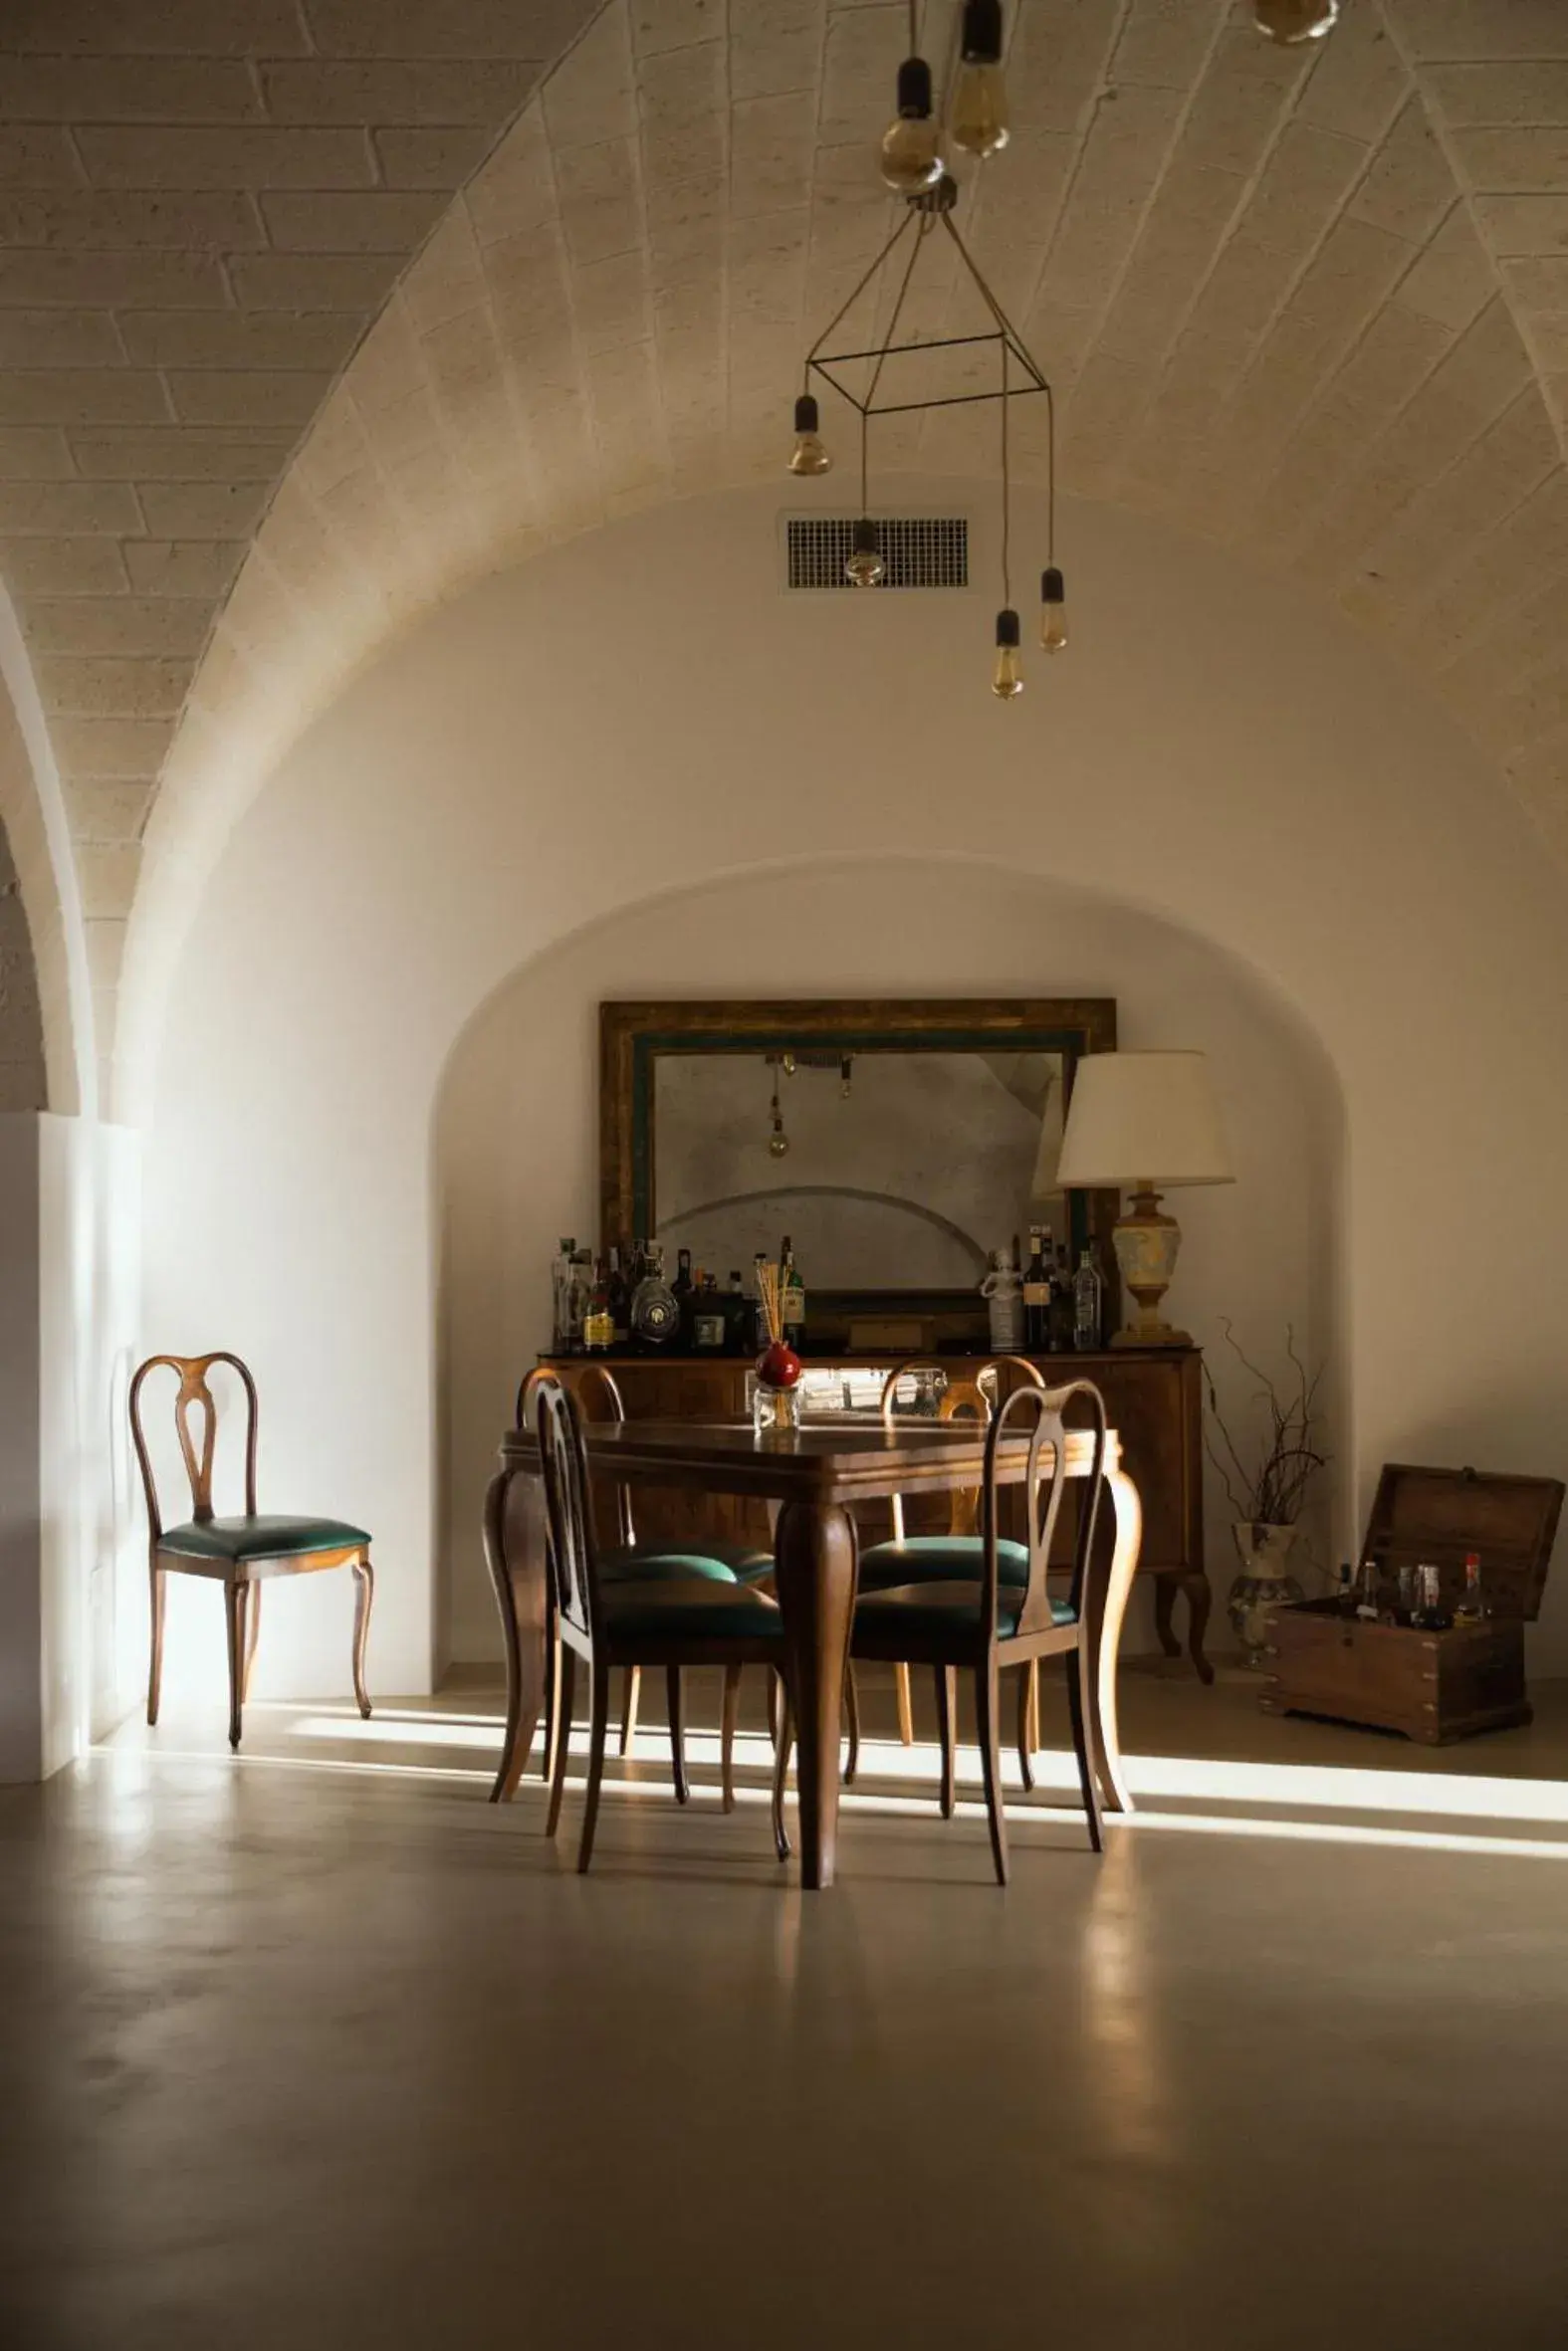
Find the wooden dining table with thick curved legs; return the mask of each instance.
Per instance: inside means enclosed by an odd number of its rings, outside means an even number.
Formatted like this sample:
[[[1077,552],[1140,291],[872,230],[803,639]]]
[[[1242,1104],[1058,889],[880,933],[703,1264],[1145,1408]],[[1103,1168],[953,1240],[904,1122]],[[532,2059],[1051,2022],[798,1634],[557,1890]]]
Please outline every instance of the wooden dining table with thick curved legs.
[[[755,1495],[778,1505],[773,1547],[783,1639],[797,1707],[797,1794],[802,1886],[832,1886],[839,1824],[839,1709],[856,1599],[858,1538],[851,1512],[889,1495],[973,1491],[985,1483],[985,1429],[973,1422],[917,1427],[809,1422],[755,1434],[750,1422],[703,1427],[691,1420],[588,1422],[588,1469],[621,1486],[677,1486],[691,1493]],[[1027,1476],[1027,1436],[997,1448],[997,1479]],[[1091,1432],[1067,1434],[1067,1476],[1093,1474]],[[1095,1547],[1086,1594],[1091,1641],[1088,1747],[1105,1810],[1131,1813],[1117,1740],[1117,1650],[1126,1615],[1143,1509],[1121,1467],[1117,1432],[1103,1460],[1112,1542]],[[501,1467],[484,1498],[484,1559],[505,1636],[505,1744],[494,1796],[517,1787],[545,1688],[545,1509],[538,1439],[508,1429]]]

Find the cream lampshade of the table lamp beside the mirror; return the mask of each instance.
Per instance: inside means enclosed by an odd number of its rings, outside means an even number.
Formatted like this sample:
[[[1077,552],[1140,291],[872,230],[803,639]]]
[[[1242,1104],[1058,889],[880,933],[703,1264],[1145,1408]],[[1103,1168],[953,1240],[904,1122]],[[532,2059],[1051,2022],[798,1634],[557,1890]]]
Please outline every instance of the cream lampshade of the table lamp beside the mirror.
[[[1056,1180],[1074,1192],[1234,1183],[1206,1053],[1086,1053]]]

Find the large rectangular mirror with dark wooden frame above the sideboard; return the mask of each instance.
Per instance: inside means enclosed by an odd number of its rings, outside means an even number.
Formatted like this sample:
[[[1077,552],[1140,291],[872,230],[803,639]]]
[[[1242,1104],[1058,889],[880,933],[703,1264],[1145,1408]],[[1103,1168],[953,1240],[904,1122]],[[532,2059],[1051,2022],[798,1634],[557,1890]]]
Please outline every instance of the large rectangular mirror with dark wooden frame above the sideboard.
[[[1072,1072],[1114,1041],[1105,997],[602,1004],[604,1244],[724,1281],[788,1232],[813,1326],[875,1300],[973,1333],[992,1248],[1110,1234],[1114,1194],[1053,1187]]]

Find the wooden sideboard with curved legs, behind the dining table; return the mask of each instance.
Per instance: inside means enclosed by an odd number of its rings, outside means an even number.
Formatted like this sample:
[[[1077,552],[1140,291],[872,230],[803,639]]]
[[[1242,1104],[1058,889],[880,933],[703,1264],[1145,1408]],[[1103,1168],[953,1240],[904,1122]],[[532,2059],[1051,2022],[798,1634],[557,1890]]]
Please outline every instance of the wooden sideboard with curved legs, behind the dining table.
[[[543,1361],[571,1385],[583,1359]],[[630,1420],[743,1420],[745,1357],[595,1357],[616,1375]],[[811,1371],[853,1366],[891,1368],[891,1354],[806,1357]],[[954,1373],[973,1373],[983,1357],[950,1357]],[[1180,1655],[1173,1629],[1175,1594],[1187,1599],[1187,1655],[1201,1681],[1213,1681],[1204,1655],[1208,1625],[1208,1578],[1204,1575],[1204,1387],[1197,1347],[1112,1347],[1103,1354],[1041,1354],[1046,1380],[1086,1378],[1105,1394],[1112,1427],[1121,1436],[1121,1460],[1143,1498],[1143,1554],[1138,1570],[1154,1575],[1154,1625],[1168,1657]],[[1072,1418],[1072,1415],[1070,1415]],[[1074,1498],[1077,1500],[1077,1498]],[[729,1542],[766,1542],[766,1505],[743,1495],[710,1495],[701,1505],[708,1533]],[[910,1531],[919,1514],[910,1509]],[[691,1533],[691,1495],[639,1488],[637,1531],[646,1538]],[[886,1523],[867,1526],[867,1540]],[[1063,1526],[1063,1538],[1070,1528]]]

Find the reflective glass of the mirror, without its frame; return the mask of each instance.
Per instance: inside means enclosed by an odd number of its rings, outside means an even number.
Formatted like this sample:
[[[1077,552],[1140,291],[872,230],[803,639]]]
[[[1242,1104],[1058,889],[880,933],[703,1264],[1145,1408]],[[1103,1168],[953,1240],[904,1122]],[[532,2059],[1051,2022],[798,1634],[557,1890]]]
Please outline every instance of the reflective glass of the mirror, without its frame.
[[[1060,1053],[661,1053],[658,1239],[719,1281],[788,1232],[816,1286],[976,1288],[1053,1206],[1060,1131]]]

